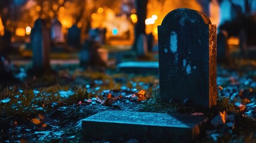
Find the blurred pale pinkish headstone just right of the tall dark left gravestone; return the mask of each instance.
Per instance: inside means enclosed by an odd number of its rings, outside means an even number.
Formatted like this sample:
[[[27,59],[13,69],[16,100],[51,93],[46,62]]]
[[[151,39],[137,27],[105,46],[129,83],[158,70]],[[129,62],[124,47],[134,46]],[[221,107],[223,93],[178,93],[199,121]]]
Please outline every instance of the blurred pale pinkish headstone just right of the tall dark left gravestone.
[[[62,25],[57,18],[53,20],[51,25],[51,41],[54,43],[64,42],[64,35],[61,31]]]

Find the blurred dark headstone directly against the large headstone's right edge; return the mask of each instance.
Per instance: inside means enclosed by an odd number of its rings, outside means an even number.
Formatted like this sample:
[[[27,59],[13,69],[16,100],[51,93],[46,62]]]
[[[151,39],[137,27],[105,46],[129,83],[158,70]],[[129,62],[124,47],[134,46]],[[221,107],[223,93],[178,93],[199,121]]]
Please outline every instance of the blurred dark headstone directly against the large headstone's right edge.
[[[221,30],[217,34],[217,63],[229,63],[229,47],[227,45],[227,32]]]

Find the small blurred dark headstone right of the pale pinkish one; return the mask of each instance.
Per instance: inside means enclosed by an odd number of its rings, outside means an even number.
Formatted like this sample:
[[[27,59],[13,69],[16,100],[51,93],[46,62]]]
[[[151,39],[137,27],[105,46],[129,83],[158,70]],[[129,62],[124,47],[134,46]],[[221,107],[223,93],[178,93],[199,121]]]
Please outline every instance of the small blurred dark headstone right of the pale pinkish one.
[[[67,45],[73,48],[81,48],[81,29],[74,24],[67,31]]]

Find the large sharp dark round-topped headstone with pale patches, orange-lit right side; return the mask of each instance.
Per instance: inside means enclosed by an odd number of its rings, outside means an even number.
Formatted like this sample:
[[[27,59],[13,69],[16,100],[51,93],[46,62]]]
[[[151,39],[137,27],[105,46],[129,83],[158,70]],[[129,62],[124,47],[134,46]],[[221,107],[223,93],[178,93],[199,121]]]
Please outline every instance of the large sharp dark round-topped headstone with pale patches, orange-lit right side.
[[[162,101],[217,102],[216,26],[199,11],[171,11],[158,26],[159,85]]]

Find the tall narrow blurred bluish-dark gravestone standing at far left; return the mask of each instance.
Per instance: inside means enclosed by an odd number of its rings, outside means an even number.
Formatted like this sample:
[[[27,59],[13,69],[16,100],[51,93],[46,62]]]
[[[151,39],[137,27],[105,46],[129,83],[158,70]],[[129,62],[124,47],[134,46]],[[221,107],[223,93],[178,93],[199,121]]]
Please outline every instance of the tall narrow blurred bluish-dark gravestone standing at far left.
[[[33,71],[42,73],[50,70],[50,30],[45,20],[38,18],[31,33],[33,48]]]

